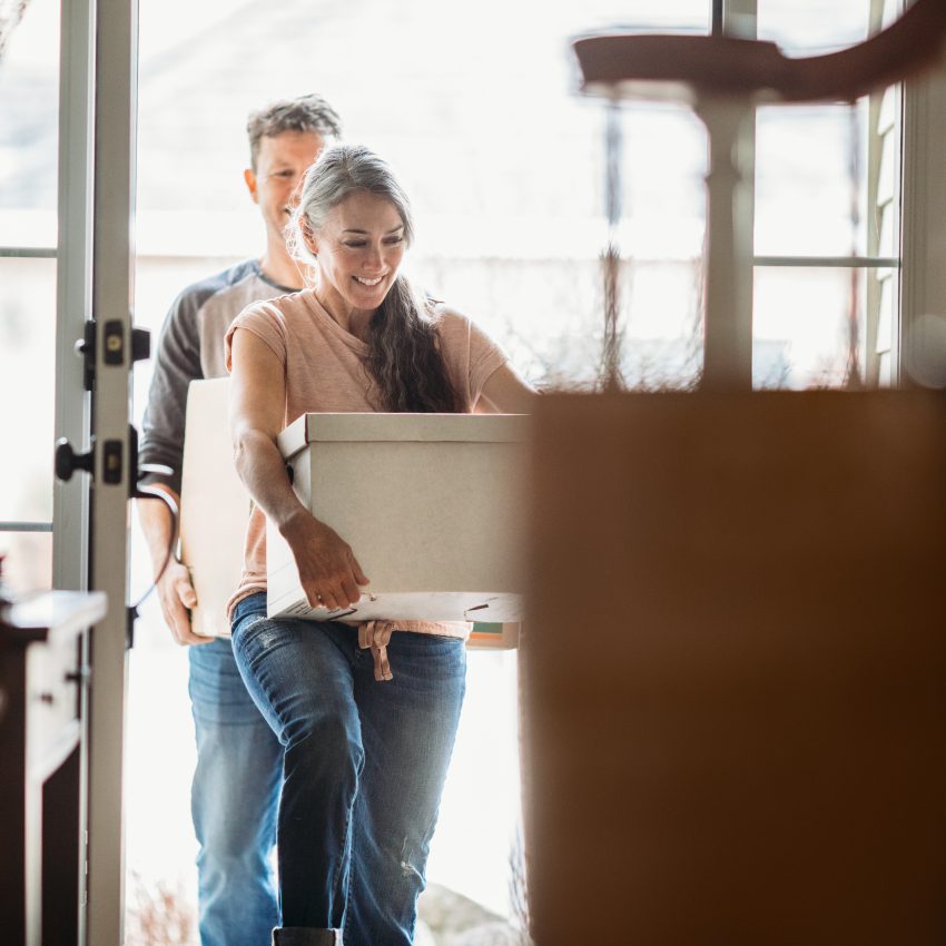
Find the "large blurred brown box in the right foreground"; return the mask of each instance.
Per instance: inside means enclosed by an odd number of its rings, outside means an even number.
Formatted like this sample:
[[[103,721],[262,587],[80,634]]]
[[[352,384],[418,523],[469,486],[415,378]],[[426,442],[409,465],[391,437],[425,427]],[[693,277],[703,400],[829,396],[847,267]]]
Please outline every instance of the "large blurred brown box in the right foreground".
[[[541,398],[538,946],[946,942],[946,400]]]

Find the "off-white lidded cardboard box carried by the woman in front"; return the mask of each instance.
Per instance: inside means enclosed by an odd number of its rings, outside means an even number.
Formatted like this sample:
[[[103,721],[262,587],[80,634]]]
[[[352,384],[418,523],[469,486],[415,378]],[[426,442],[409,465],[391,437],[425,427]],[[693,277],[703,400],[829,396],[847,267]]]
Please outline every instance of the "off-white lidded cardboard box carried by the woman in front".
[[[279,435],[294,489],[372,581],[344,612],[312,609],[267,532],[269,614],[511,622],[521,617],[528,418],[306,414]]]

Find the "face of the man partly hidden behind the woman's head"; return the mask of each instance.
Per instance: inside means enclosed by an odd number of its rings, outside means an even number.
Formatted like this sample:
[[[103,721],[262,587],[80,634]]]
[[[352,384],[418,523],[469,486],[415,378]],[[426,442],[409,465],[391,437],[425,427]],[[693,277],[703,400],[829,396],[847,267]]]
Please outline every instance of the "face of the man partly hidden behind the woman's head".
[[[259,205],[268,240],[285,244],[290,198],[324,145],[314,131],[284,131],[260,138],[256,170],[247,168],[244,178],[250,197]]]

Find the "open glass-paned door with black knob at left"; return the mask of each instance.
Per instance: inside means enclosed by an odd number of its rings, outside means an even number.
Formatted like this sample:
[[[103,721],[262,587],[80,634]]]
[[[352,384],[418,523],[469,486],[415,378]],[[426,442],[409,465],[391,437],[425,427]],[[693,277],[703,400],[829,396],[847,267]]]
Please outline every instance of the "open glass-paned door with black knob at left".
[[[0,168],[0,327],[9,336],[0,552],[14,588],[51,583],[108,595],[89,653],[89,870],[80,924],[91,946],[117,946],[137,2],[29,0],[19,13],[18,23],[4,19],[0,48],[0,115],[11,129]],[[83,338],[86,358],[76,352]],[[60,472],[75,459],[91,476],[77,469],[53,483],[51,434],[69,443],[57,454]],[[50,556],[51,581],[43,573]]]

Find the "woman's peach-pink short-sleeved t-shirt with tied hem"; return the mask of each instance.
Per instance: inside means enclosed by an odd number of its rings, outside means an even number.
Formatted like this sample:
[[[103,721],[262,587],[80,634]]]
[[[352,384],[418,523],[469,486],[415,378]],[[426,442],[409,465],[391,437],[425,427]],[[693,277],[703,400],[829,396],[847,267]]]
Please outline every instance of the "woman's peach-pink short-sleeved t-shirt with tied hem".
[[[441,352],[462,412],[471,413],[483,385],[506,357],[469,318],[445,307],[436,311]],[[346,332],[325,311],[312,289],[245,308],[226,336],[226,365],[231,371],[234,333],[243,328],[260,338],[283,364],[288,426],[311,412],[376,412],[373,383],[365,367],[366,343]],[[228,610],[243,598],[266,590],[266,516],[254,506],[246,536],[244,573]],[[400,621],[398,630],[465,637],[469,624]]]

